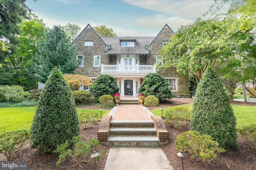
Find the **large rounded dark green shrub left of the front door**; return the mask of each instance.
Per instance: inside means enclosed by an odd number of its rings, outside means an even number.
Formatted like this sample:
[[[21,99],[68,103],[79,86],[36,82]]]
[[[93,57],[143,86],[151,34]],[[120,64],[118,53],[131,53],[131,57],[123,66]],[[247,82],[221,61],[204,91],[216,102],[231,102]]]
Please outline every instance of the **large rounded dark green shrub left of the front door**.
[[[90,86],[90,92],[92,92],[95,100],[98,101],[100,96],[105,94],[114,97],[114,94],[119,92],[119,87],[113,76],[102,74],[94,80],[92,86]]]

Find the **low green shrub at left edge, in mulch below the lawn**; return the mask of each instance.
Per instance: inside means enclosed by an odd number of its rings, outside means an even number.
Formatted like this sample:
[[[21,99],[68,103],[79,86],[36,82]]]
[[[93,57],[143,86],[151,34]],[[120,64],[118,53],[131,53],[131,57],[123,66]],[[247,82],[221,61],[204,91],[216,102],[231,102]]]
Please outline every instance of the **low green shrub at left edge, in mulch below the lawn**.
[[[29,131],[24,129],[0,133],[0,153],[10,160],[28,143],[29,136]]]

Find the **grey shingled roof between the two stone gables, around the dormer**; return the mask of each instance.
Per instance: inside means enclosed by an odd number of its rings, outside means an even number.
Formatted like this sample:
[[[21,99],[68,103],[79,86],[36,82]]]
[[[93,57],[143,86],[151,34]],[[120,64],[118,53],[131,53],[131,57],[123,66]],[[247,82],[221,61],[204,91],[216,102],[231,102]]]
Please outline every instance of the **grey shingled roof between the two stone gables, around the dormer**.
[[[150,44],[154,37],[102,37],[106,44],[111,45],[108,54],[149,54],[145,45]],[[135,40],[135,47],[121,47],[120,40]]]

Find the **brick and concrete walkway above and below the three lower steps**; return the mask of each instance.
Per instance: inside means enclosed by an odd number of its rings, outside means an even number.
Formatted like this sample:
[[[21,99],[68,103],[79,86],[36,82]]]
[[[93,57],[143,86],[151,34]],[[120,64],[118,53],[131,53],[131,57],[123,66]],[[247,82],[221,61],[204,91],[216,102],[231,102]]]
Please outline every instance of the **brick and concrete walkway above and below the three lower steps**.
[[[140,105],[115,106],[112,120],[151,120],[153,115]],[[111,147],[104,170],[173,170],[161,148]]]

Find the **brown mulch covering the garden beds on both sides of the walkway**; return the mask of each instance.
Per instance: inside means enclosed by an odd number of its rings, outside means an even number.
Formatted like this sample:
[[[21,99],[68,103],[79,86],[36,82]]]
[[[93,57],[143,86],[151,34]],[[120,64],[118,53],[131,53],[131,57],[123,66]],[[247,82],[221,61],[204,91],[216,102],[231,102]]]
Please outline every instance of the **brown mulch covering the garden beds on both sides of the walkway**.
[[[166,103],[161,104],[157,107],[151,107],[151,109],[157,109],[161,107],[174,106],[183,103],[193,102],[192,98],[173,98],[168,100]],[[256,103],[244,103],[244,102],[232,102],[232,104],[240,105],[255,105]],[[83,108],[90,109],[100,109],[97,106],[86,106]],[[97,138],[97,131],[99,129],[100,122],[93,125],[90,129],[82,129],[80,135],[84,135],[84,141],[88,141],[90,138]],[[170,134],[170,143],[164,147],[161,147],[166,154],[170,164],[174,170],[182,169],[181,159],[176,154],[174,141],[178,134],[190,130],[189,122],[185,127],[170,127],[166,125],[166,129]],[[256,150],[251,149],[250,146],[241,138],[238,138],[239,150],[227,150],[226,152],[220,154],[210,164],[204,164],[195,159],[191,159],[189,156],[184,158],[184,169],[186,170],[255,170],[256,167]],[[97,162],[97,169],[103,170],[108,158],[108,153],[110,147],[104,145],[99,145],[99,147],[94,150],[99,152],[104,150],[102,158]],[[0,161],[4,160],[4,155],[0,154]],[[13,158],[16,161],[28,161],[29,170],[94,170],[94,161],[84,162],[76,167],[70,167],[68,161],[61,164],[62,167],[56,167],[56,162],[58,161],[57,156],[51,154],[38,155],[36,149],[31,149],[29,145],[25,146],[16,157]],[[89,158],[88,158],[89,160]]]

